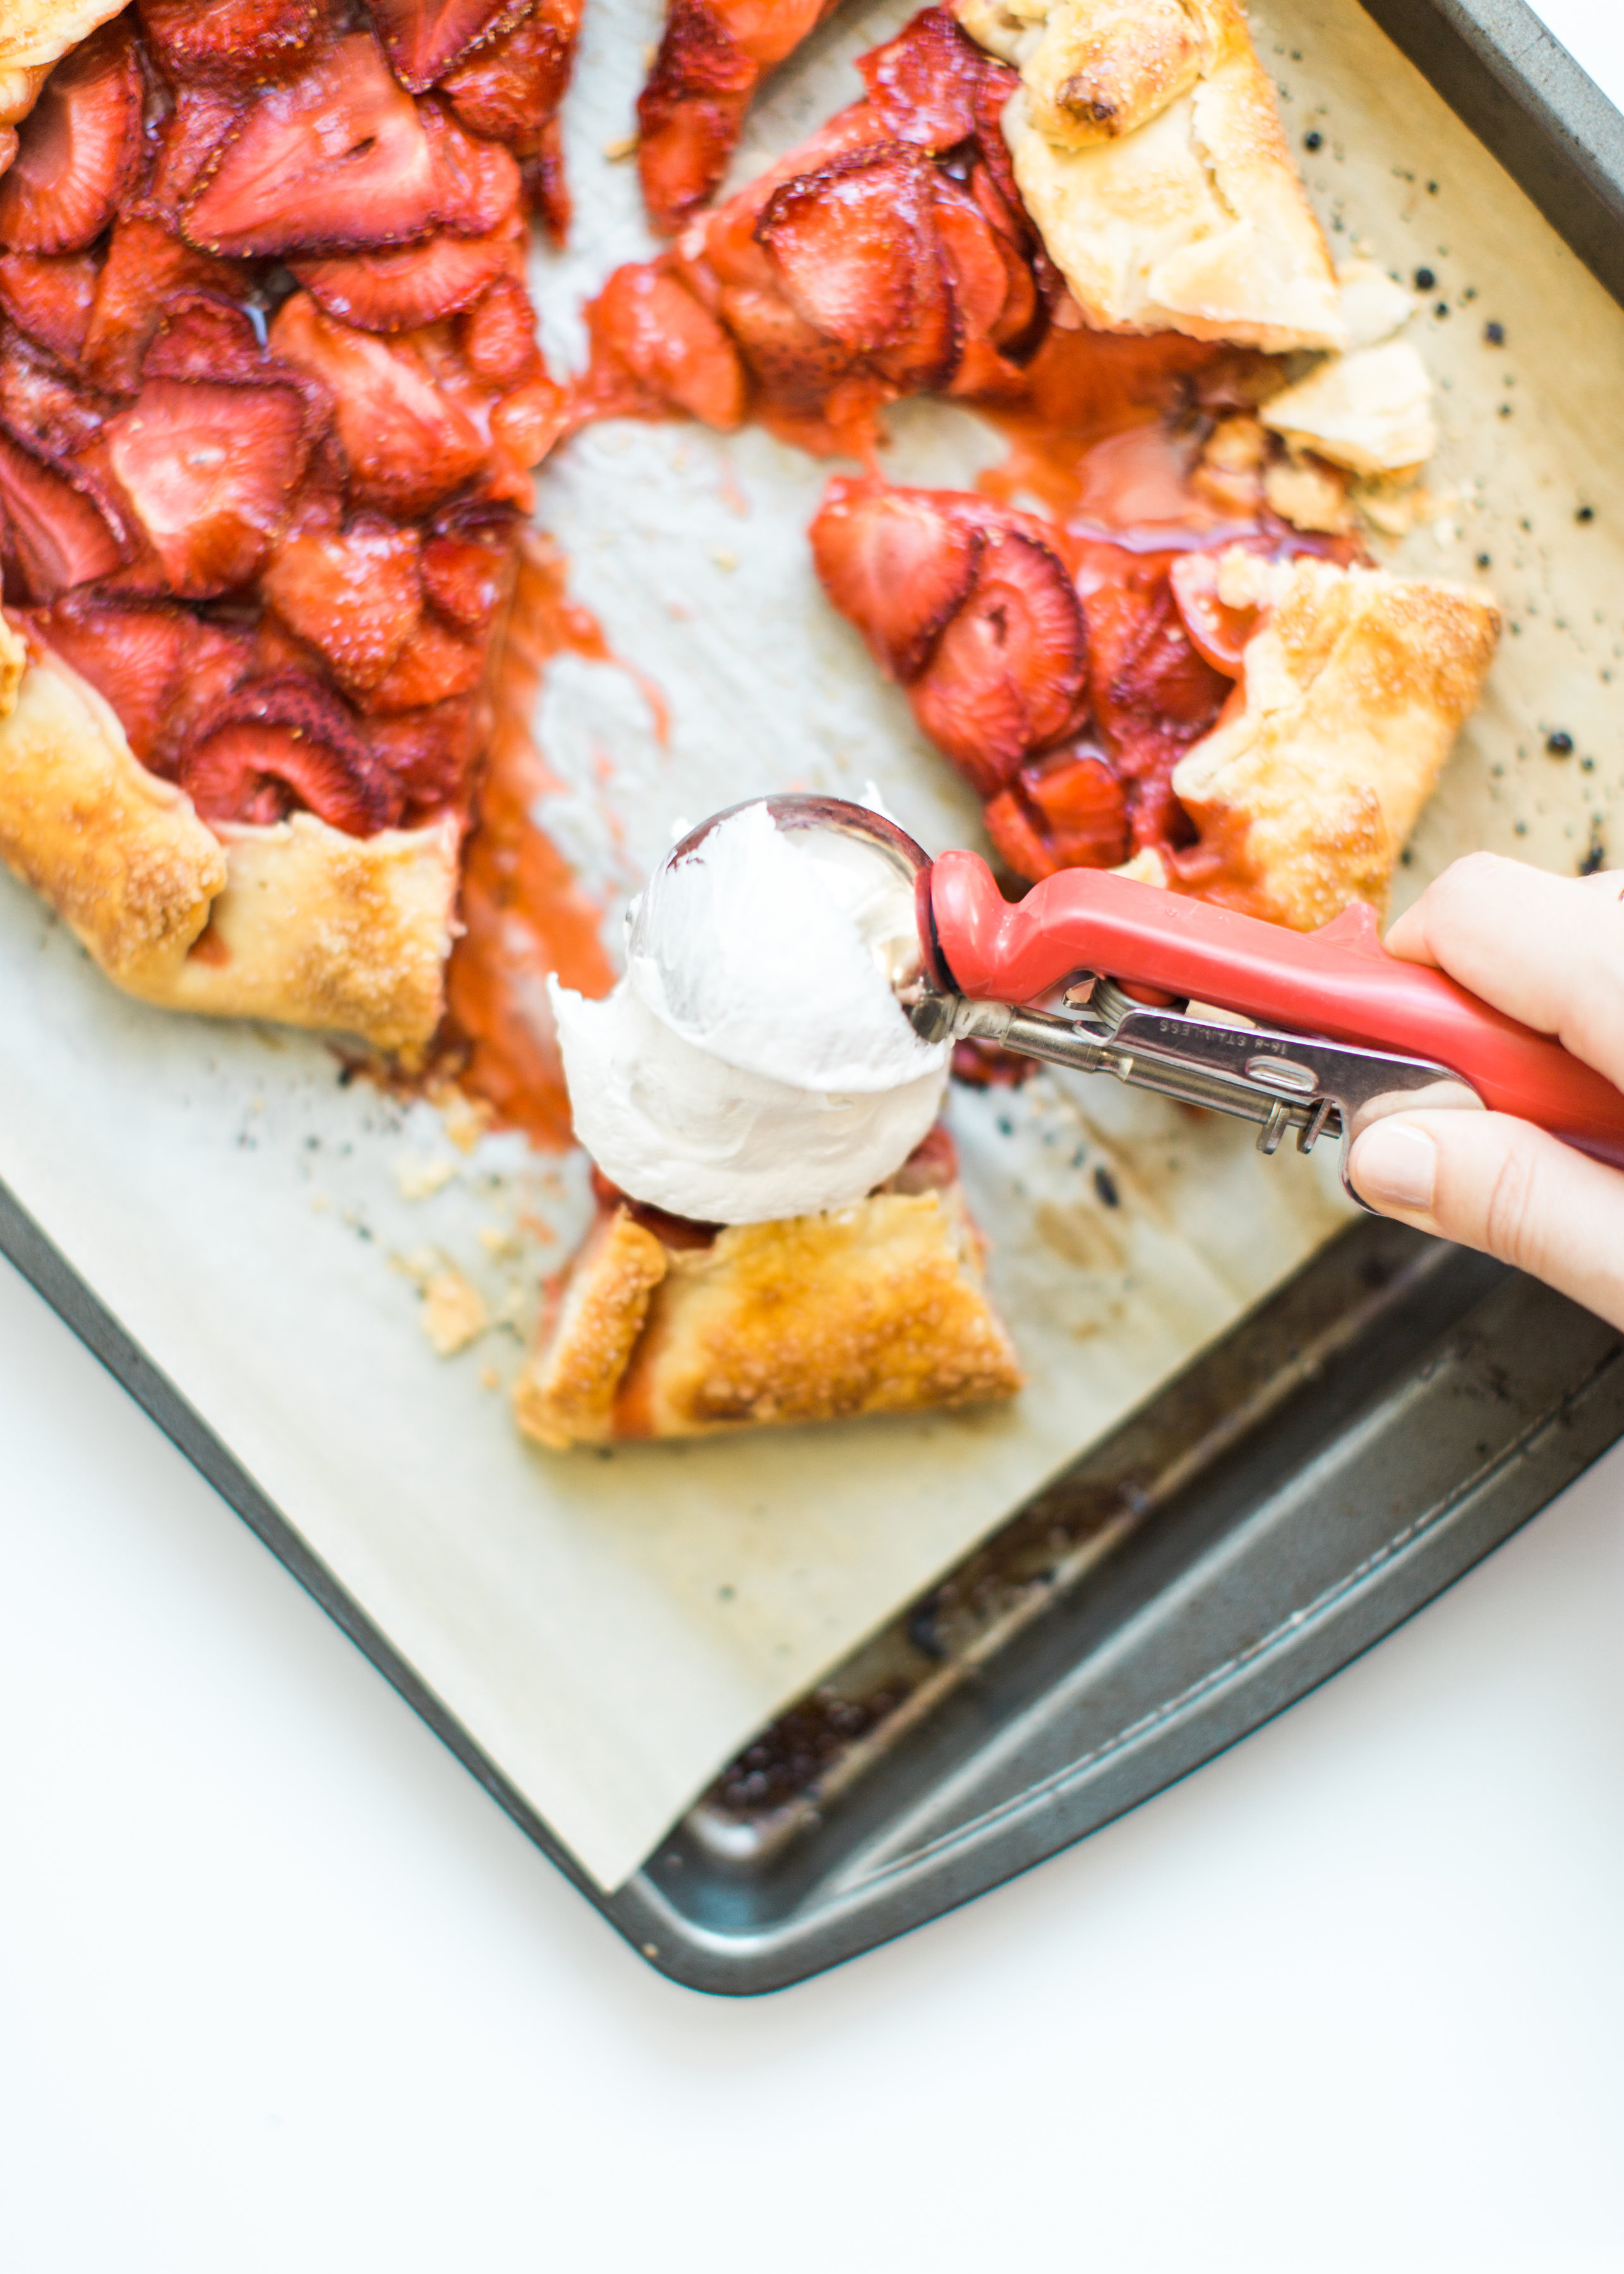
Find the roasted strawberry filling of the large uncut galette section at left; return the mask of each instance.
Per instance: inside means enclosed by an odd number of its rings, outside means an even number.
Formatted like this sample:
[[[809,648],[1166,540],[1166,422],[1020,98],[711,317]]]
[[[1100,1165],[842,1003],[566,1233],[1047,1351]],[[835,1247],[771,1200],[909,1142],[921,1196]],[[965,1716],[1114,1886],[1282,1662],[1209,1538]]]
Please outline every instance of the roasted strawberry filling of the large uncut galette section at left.
[[[212,821],[469,812],[562,428],[521,166],[578,7],[521,16],[141,0],[0,177],[5,600]]]

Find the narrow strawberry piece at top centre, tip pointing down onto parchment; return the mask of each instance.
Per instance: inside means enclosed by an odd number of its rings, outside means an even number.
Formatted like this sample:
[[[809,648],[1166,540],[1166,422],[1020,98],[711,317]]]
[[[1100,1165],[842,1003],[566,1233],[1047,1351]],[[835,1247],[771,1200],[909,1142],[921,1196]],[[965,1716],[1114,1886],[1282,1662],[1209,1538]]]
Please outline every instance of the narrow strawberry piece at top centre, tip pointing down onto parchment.
[[[760,64],[705,0],[671,0],[655,66],[637,98],[644,205],[666,236],[728,171],[760,75]]]

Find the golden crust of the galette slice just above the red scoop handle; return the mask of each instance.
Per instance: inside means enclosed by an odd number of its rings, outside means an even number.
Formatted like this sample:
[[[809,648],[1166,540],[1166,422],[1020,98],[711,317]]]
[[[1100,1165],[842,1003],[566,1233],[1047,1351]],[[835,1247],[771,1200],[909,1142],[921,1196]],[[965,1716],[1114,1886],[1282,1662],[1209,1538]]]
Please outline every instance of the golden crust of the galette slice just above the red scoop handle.
[[[1387,905],[1392,869],[1472,716],[1499,609],[1465,584],[1269,566],[1231,553],[1233,605],[1265,603],[1240,689],[1174,771],[1219,873],[1201,898],[1294,930],[1353,901]]]

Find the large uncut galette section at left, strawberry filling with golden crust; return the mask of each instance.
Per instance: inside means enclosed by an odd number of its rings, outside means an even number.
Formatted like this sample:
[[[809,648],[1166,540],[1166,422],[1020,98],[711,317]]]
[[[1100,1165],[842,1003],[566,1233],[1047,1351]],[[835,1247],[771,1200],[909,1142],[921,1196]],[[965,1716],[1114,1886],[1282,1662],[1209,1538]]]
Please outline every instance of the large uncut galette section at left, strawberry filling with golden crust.
[[[0,848],[148,1001],[421,1048],[562,418],[523,211],[573,0],[52,14],[0,177]]]

